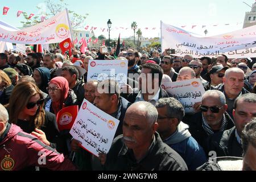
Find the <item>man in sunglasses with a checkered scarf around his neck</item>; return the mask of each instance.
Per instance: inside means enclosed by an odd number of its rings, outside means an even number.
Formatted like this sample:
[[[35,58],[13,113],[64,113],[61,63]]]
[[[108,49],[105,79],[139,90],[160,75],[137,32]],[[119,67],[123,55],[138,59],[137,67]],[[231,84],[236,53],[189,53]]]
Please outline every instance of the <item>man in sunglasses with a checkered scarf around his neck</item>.
[[[189,132],[204,148],[208,155],[208,139],[218,131],[225,131],[234,126],[232,118],[226,113],[228,105],[224,93],[208,90],[203,94],[200,112],[190,119]]]

